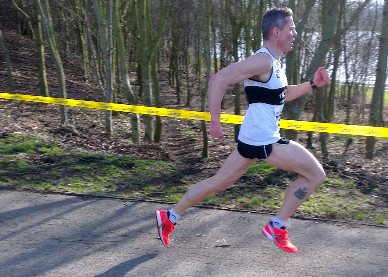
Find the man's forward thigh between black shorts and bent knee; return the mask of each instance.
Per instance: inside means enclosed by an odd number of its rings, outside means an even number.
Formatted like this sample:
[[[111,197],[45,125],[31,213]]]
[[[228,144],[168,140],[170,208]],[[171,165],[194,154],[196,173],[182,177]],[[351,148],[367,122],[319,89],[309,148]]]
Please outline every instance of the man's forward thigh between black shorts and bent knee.
[[[305,177],[323,171],[319,161],[305,147],[290,140],[287,145],[273,144],[272,152],[267,159],[263,159],[282,170],[298,173]]]

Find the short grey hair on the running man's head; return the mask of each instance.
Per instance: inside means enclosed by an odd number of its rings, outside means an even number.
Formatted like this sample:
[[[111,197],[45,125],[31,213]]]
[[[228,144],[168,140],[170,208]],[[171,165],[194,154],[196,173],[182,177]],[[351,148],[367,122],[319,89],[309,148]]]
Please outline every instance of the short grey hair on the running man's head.
[[[290,8],[268,9],[262,19],[263,40],[269,39],[272,28],[278,27],[282,30],[286,23],[284,19],[288,16],[294,16],[294,13]]]

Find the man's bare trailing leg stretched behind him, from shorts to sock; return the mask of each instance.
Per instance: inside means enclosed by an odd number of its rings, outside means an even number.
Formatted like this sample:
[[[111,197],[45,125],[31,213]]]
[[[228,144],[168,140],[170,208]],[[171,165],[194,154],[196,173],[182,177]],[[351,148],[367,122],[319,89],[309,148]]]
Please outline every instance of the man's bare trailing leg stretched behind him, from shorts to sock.
[[[248,170],[256,159],[244,158],[234,150],[225,160],[217,174],[202,182],[193,185],[174,206],[174,211],[178,215],[202,201],[204,198],[218,191],[227,189],[236,182]]]

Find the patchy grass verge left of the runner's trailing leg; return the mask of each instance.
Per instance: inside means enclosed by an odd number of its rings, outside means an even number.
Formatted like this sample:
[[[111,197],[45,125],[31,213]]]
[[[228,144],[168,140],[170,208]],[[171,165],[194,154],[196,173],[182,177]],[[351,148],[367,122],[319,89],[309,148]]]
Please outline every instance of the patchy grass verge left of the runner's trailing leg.
[[[54,142],[25,135],[0,140],[0,153],[3,185],[139,197],[163,178],[180,178],[176,165],[165,161],[66,152]]]

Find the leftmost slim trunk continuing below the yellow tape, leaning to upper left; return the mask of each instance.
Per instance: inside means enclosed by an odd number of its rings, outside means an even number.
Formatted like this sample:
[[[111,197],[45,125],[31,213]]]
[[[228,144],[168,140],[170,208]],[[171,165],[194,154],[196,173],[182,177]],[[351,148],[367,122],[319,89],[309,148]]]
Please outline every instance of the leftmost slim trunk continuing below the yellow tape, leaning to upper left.
[[[59,97],[67,98],[65,72],[62,65],[61,56],[59,55],[57,44],[55,42],[54,28],[52,26],[52,19],[51,19],[50,8],[49,8],[49,0],[44,0],[43,4],[41,0],[37,0],[37,1],[39,5],[40,15],[44,19],[43,25],[45,26],[47,38],[49,40],[50,53],[54,60],[55,69],[57,72]],[[60,105],[59,107],[61,111],[61,123],[67,126],[68,125],[67,107],[64,105]]]

